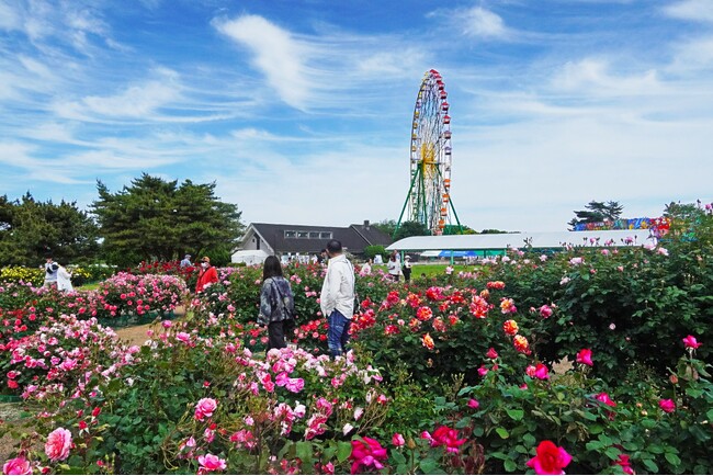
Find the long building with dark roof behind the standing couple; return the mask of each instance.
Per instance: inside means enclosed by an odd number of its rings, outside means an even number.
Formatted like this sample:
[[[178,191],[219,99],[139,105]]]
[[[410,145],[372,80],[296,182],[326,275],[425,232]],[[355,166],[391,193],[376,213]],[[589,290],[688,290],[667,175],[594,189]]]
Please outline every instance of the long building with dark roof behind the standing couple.
[[[348,227],[251,223],[242,236],[240,249],[262,250],[275,256],[318,254],[331,239],[341,241],[344,251],[355,256],[362,256],[369,246],[387,247],[393,241],[369,220]]]

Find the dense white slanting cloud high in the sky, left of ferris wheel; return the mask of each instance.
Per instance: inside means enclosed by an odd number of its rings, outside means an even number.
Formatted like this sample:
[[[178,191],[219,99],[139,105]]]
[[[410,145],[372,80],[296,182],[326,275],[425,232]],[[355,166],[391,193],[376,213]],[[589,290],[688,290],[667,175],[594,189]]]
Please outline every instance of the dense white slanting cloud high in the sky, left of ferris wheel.
[[[214,20],[222,34],[246,46],[252,63],[265,76],[280,98],[296,109],[305,109],[309,100],[308,48],[288,31],[258,15],[236,20]]]

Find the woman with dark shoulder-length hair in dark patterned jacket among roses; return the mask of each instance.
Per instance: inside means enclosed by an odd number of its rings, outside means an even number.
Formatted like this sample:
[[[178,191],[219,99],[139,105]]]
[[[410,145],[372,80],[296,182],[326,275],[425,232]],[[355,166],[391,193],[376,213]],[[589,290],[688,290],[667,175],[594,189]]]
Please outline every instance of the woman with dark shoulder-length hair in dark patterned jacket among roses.
[[[270,256],[262,267],[262,288],[260,290],[260,314],[258,324],[268,326],[268,349],[287,347],[285,336],[294,329],[295,298],[290,281],[282,274],[280,259]]]

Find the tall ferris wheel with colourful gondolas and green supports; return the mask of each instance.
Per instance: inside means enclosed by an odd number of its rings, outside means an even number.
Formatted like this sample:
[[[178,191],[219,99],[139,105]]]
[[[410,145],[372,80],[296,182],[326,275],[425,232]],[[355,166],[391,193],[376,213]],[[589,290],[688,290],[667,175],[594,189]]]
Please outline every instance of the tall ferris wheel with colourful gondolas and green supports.
[[[450,231],[453,225],[451,217],[455,218],[459,228],[461,226],[451,201],[449,109],[443,78],[435,69],[426,71],[414,107],[410,186],[396,230],[405,216],[405,220],[425,225],[431,235]]]

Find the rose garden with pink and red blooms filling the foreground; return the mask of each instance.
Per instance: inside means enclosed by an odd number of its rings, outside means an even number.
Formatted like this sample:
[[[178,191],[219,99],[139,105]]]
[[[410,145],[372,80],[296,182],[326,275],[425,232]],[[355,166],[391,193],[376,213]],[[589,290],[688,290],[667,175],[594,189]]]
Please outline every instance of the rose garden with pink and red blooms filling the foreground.
[[[359,275],[337,360],[319,264],[285,269],[298,327],[267,355],[258,268],[220,269],[199,296],[167,263],[70,294],[5,276],[2,394],[22,413],[2,424],[3,469],[710,474],[712,246],[708,213],[655,248]],[[128,345],[122,319],[156,325]]]

